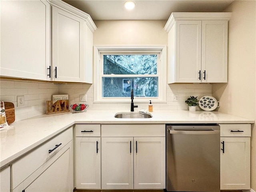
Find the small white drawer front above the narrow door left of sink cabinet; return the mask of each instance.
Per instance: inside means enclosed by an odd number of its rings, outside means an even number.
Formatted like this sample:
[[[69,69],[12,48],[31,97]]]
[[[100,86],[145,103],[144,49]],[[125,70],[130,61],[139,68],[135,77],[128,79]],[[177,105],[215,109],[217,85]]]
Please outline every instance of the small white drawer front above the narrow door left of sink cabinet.
[[[76,137],[100,137],[100,124],[76,124]]]

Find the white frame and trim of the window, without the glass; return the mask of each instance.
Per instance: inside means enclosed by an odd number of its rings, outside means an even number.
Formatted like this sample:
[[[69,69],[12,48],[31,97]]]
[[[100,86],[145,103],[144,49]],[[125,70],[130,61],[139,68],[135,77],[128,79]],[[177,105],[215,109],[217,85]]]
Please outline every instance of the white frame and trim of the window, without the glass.
[[[103,54],[158,54],[158,97],[135,97],[136,102],[166,102],[166,46],[94,46],[94,102],[130,102],[130,97],[102,97]],[[105,75],[104,75],[105,76]],[[111,75],[108,75],[111,77]],[[141,75],[120,75],[120,77],[136,77]],[[117,77],[117,75],[113,76]],[[145,76],[146,77],[146,76]]]

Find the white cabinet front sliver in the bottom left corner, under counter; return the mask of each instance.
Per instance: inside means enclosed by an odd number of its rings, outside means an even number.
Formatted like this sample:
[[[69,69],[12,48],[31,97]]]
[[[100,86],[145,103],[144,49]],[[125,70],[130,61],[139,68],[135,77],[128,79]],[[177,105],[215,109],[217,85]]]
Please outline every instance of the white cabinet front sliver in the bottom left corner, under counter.
[[[1,192],[10,192],[11,187],[11,178],[10,178],[11,172],[10,172],[10,166],[7,168],[4,168],[0,171],[0,191]]]

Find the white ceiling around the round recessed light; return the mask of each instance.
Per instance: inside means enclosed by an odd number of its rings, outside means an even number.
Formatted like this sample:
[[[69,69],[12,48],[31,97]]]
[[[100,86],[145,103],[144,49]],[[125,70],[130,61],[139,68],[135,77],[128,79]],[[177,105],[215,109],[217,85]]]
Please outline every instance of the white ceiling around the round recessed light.
[[[234,0],[133,0],[134,10],[126,10],[126,0],[63,0],[90,14],[93,20],[167,20],[172,12],[222,12]]]

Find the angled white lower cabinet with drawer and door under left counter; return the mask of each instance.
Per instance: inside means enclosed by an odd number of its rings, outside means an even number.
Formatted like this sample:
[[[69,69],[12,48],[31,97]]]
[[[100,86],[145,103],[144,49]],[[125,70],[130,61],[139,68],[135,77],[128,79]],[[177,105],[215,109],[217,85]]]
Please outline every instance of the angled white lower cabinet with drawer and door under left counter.
[[[11,191],[72,192],[72,133],[71,127],[14,162]]]

